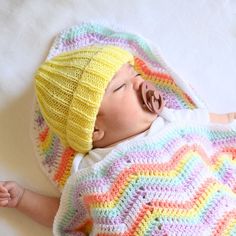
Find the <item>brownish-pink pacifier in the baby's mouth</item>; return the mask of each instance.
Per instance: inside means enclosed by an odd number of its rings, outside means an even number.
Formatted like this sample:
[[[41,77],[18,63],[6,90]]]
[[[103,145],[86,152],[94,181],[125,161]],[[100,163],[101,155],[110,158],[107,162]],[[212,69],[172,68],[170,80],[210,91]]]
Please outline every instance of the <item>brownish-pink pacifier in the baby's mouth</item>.
[[[147,109],[155,114],[159,114],[164,107],[163,96],[154,84],[144,81],[141,84],[141,94]]]

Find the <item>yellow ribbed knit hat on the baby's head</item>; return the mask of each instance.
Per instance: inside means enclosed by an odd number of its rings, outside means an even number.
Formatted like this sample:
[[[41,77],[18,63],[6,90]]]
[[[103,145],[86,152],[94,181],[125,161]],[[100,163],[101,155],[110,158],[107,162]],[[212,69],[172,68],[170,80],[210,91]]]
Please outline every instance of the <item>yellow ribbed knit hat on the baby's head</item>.
[[[62,53],[36,72],[37,100],[49,128],[80,153],[92,149],[92,134],[105,89],[133,56],[116,46],[90,46]]]

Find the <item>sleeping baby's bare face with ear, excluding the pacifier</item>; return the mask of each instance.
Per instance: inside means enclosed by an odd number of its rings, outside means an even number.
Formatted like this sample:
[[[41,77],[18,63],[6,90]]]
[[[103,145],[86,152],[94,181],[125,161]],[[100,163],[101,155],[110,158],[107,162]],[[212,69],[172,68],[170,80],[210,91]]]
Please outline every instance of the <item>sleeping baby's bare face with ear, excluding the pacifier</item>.
[[[125,64],[109,83],[93,134],[93,146],[113,145],[147,130],[157,117],[143,107],[140,86],[143,78]]]

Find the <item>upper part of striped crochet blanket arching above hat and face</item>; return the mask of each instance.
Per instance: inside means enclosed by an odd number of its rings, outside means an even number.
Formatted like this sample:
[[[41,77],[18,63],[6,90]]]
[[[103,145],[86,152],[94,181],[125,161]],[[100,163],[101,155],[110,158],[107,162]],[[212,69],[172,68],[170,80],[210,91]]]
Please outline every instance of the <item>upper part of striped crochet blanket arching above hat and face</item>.
[[[156,49],[139,35],[114,30],[95,23],[73,26],[56,38],[48,59],[62,53],[94,44],[114,45],[127,49],[136,56],[136,69],[146,80],[151,80],[162,91],[166,106],[170,108],[195,108],[196,104],[184,91],[180,78],[172,75]],[[194,96],[194,95],[193,95]]]

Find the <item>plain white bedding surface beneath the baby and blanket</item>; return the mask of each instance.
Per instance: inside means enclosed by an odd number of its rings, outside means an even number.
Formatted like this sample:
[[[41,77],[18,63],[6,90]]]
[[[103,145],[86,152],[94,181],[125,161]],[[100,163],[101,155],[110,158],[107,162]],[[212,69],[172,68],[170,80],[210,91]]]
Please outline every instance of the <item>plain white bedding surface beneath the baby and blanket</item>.
[[[138,32],[161,49],[209,110],[236,111],[234,0],[1,0],[0,180],[58,194],[31,145],[32,81],[56,33],[81,21]],[[0,235],[47,236],[51,231],[14,209],[0,209]]]

